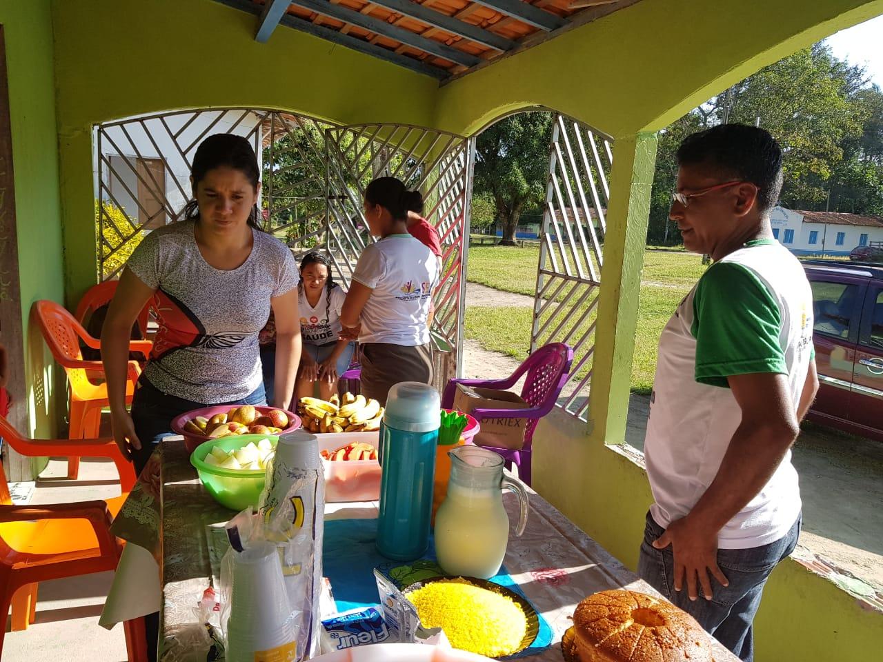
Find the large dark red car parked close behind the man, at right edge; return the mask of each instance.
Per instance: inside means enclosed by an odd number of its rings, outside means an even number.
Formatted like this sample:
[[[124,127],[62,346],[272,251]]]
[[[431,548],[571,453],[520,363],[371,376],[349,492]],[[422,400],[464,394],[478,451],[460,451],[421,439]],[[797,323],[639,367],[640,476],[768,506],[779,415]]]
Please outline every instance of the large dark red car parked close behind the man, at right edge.
[[[883,441],[883,266],[808,260],[819,371],[812,421]]]

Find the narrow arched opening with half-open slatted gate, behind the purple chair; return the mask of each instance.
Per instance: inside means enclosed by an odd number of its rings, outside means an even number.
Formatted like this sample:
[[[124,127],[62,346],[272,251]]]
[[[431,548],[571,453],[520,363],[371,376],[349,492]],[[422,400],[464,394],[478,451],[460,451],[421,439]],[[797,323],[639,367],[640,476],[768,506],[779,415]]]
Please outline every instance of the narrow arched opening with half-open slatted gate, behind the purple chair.
[[[489,124],[476,145],[464,372],[507,377],[564,342],[574,359],[557,407],[585,422],[612,142],[532,109]]]

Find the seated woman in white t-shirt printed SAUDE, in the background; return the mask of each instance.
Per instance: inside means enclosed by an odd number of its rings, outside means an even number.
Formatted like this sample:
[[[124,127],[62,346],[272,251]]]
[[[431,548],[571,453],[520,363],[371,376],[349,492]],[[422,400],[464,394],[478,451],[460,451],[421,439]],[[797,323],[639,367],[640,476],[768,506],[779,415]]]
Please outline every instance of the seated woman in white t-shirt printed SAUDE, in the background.
[[[340,339],[340,312],[346,292],[331,275],[328,256],[308,252],[300,260],[298,311],[304,340],[298,373],[297,399],[312,396],[319,382],[319,396],[328,400],[337,392],[337,378],[346,372],[355,350],[354,342]]]

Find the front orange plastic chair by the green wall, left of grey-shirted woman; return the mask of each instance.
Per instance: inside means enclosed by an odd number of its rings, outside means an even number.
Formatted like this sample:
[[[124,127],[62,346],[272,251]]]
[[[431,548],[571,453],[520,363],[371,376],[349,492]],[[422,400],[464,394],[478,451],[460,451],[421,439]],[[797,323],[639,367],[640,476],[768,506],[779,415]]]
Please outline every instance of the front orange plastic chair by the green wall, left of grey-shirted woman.
[[[64,366],[67,380],[71,386],[70,428],[69,439],[94,439],[101,428],[102,409],[109,406],[106,384],[93,384],[87,377],[87,370],[104,374],[101,361],[85,361],[79,351],[78,339],[95,350],[101,349],[101,341],[88,335],[86,329],[74,320],[70,312],[64,310],[54,301],[35,301],[31,307],[43,339],[55,360]],[[145,357],[150,352],[152,343],[146,340],[129,342],[130,351],[138,351]],[[135,382],[140,375],[137,361],[128,362],[128,378],[125,382],[125,403],[132,403],[135,393]],[[68,458],[68,478],[77,478],[79,473],[79,457]]]

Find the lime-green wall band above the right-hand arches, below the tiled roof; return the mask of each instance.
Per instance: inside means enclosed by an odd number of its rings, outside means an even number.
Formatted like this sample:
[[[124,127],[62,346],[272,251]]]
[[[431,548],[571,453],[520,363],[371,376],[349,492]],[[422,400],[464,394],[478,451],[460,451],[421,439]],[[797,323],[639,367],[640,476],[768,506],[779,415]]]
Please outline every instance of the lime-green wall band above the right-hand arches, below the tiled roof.
[[[883,0],[643,0],[445,85],[435,125],[469,135],[512,110],[545,106],[616,138],[655,131],[880,13]]]

